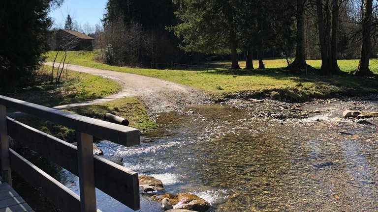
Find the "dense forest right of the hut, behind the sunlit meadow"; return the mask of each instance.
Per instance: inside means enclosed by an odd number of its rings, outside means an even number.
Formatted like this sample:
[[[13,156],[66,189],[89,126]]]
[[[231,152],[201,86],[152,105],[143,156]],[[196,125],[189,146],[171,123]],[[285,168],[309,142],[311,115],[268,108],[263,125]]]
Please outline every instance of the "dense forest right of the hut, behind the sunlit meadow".
[[[377,57],[377,0],[109,0],[101,42],[105,62],[197,63],[231,55],[233,69],[246,59],[286,57],[288,68],[321,59],[320,73],[337,74],[337,59],[361,58],[357,75],[371,74]],[[272,55],[276,53],[275,55]],[[222,58],[222,57],[218,57]],[[295,58],[293,61],[289,58]]]

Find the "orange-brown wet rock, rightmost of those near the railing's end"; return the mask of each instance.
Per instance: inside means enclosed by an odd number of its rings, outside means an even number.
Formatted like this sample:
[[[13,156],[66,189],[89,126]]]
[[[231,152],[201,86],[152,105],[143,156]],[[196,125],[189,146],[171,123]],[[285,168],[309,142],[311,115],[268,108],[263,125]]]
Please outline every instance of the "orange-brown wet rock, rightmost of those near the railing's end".
[[[179,194],[179,203],[175,205],[175,208],[206,212],[210,208],[210,203],[194,194],[181,193]]]

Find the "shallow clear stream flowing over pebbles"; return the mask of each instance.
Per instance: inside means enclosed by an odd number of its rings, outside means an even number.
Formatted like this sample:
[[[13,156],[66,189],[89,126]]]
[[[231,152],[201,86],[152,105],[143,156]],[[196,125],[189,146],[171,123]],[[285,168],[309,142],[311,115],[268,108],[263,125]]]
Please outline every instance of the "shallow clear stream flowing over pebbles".
[[[378,211],[377,126],[334,118],[358,103],[313,107],[323,112],[283,121],[194,106],[194,113],[159,114],[160,128],[138,146],[97,145],[127,168],[160,179],[169,193],[204,198],[210,211]],[[65,176],[78,192],[77,178]],[[100,191],[97,202],[104,212],[131,211]],[[141,211],[161,209],[141,194]]]

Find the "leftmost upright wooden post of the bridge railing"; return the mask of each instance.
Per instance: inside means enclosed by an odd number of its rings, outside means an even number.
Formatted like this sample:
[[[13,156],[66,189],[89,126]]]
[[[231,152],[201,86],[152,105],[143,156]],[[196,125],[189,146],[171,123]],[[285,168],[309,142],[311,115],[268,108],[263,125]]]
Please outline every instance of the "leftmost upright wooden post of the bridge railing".
[[[0,105],[0,160],[2,180],[12,186],[12,176],[9,164],[9,140],[6,124],[6,107],[2,105]]]

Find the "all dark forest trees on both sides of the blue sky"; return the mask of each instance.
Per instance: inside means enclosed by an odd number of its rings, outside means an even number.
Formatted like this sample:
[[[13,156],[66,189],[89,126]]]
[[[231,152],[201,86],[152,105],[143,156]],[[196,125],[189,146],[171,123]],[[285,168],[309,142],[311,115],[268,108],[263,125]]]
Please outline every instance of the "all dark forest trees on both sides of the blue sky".
[[[1,1],[0,84],[11,82],[2,89],[32,82],[52,36],[48,13],[62,2]],[[264,58],[284,57],[289,70],[321,59],[320,74],[338,74],[338,59],[357,58],[355,74],[369,76],[378,52],[378,0],[108,0],[105,10],[92,36],[116,66],[214,59],[261,69]]]

